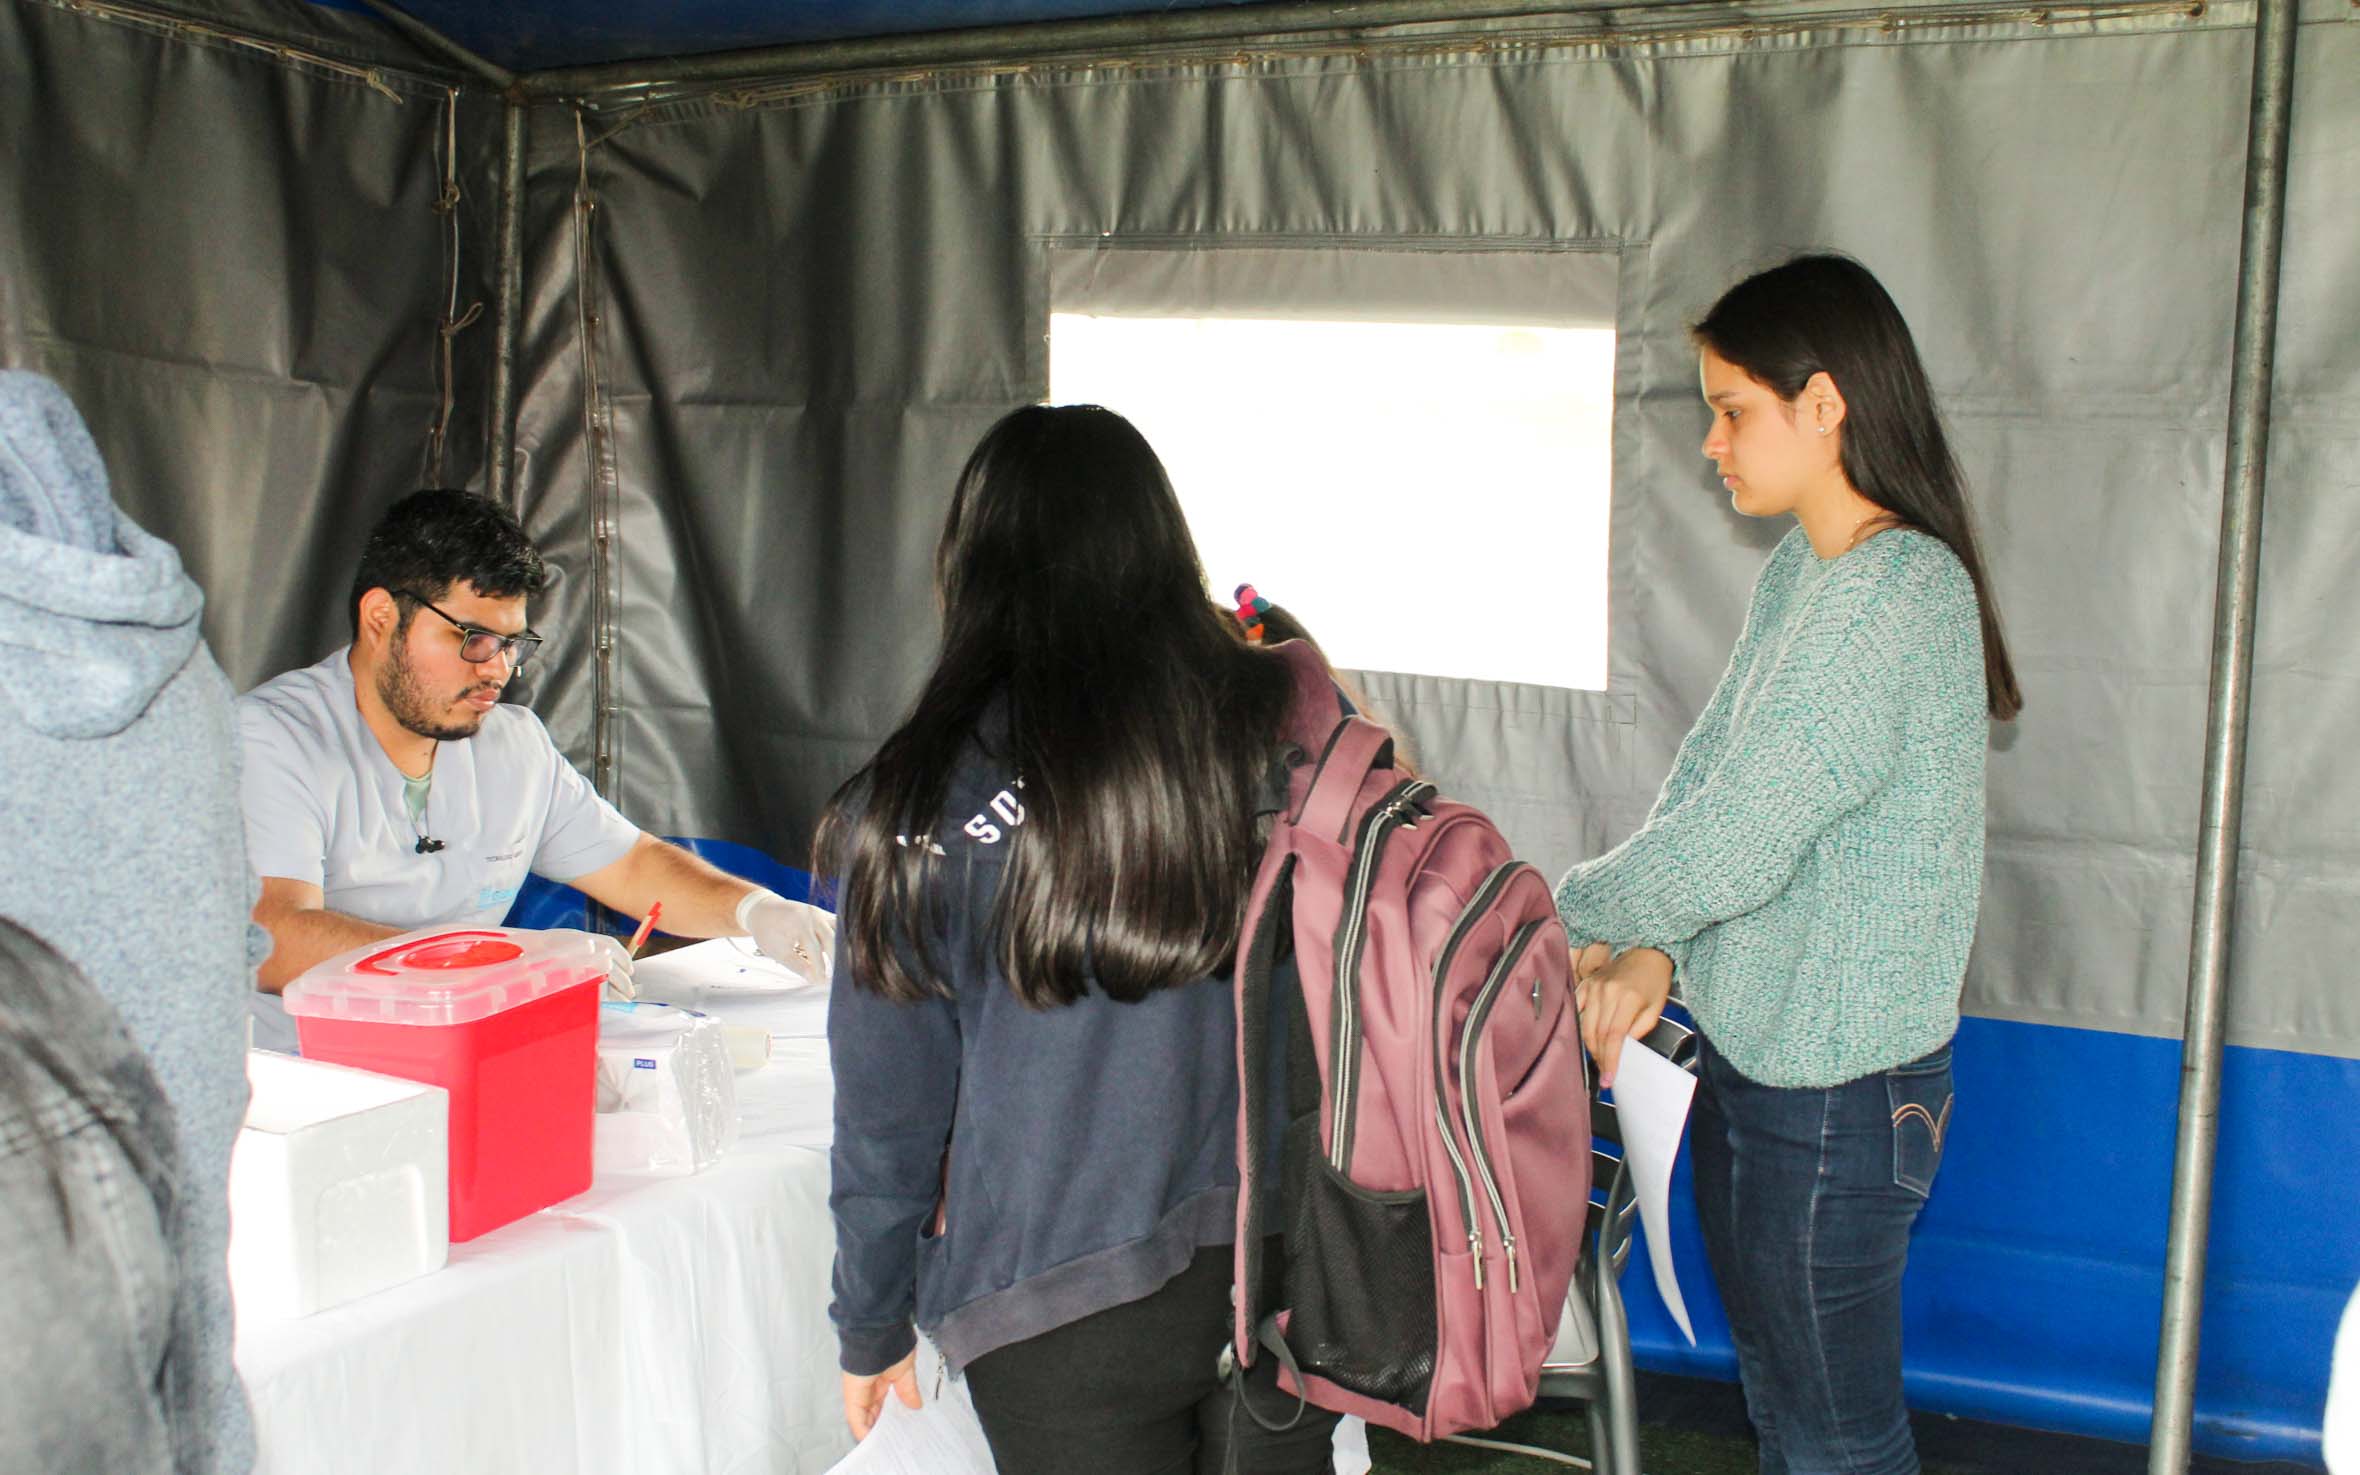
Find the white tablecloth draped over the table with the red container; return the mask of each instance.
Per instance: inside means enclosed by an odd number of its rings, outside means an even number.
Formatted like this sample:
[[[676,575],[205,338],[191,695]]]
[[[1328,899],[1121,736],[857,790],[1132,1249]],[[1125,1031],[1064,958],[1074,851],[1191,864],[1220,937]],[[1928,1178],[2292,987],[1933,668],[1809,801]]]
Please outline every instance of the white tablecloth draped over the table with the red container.
[[[828,1326],[826,991],[781,989],[727,942],[637,979],[772,1031],[772,1062],[736,1079],[736,1147],[689,1178],[602,1175],[451,1246],[437,1274],[241,1326],[257,1475],[821,1475],[852,1449]],[[894,1433],[972,1449],[972,1418],[944,1397]],[[1336,1444],[1340,1475],[1369,1468],[1357,1421]]]

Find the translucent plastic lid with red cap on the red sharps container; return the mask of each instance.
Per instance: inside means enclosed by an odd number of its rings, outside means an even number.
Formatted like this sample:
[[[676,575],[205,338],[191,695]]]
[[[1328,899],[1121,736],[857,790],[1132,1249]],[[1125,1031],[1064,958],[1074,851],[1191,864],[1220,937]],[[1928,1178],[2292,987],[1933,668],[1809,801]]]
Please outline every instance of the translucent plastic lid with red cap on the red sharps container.
[[[472,1024],[607,977],[583,932],[422,927],[352,949],[286,986],[290,1015],[356,1024]]]

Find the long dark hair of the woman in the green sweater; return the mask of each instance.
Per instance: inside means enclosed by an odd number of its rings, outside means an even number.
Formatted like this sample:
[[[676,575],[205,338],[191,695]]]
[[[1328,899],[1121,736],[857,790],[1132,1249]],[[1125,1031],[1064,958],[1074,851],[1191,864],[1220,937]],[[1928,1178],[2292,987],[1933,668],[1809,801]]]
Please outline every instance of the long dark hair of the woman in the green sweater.
[[[1982,684],[2001,722],[2025,710],[1999,604],[1982,571],[1966,477],[1949,453],[1909,323],[1886,288],[1843,255],[1798,255],[1713,302],[1690,335],[1794,401],[1824,373],[1843,394],[1843,474],[1902,526],[1949,545],[1982,609]]]

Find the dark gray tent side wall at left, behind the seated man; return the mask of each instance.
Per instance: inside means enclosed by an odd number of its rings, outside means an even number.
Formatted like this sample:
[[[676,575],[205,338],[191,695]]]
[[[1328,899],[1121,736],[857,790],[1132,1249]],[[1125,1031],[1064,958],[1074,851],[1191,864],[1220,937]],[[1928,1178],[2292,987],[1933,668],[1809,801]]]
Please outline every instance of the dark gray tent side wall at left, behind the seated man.
[[[446,413],[439,326],[489,297],[500,106],[354,17],[153,17],[0,2],[0,363],[73,394],[245,687],[349,640],[387,503],[481,477],[491,328]]]

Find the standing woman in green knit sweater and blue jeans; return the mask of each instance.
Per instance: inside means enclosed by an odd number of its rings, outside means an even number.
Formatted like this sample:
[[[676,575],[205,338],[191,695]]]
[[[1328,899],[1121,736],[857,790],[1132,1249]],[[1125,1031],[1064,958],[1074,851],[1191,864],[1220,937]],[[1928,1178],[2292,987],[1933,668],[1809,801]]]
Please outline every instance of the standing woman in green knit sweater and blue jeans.
[[[1763,1475],[1914,1475],[1900,1281],[1949,1130],[1987,720],[2023,706],[1916,345],[1796,257],[1694,328],[1713,458],[1794,517],[1647,824],[1558,913],[1612,1081],[1678,989],[1697,1218]]]

